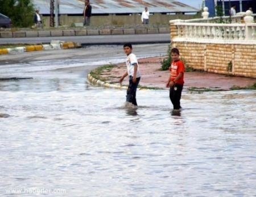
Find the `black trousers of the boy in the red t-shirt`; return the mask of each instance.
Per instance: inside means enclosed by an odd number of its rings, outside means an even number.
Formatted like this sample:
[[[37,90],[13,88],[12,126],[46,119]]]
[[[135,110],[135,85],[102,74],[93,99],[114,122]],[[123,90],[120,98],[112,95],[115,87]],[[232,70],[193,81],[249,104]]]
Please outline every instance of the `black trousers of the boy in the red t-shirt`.
[[[172,104],[174,105],[174,110],[179,110],[180,106],[180,98],[181,98],[181,91],[183,89],[183,85],[175,83],[174,86],[170,87],[170,99]]]

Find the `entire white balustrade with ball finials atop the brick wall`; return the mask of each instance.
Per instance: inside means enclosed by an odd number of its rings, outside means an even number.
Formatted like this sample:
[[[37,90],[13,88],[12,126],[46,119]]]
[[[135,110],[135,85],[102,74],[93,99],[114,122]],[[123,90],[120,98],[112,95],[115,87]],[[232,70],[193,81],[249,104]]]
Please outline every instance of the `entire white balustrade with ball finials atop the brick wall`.
[[[247,43],[256,44],[256,23],[254,23],[256,15],[250,10],[232,17],[208,18],[208,15],[208,8],[205,7],[202,13],[203,19],[171,20],[170,23],[177,28],[174,39],[238,43],[248,41]]]

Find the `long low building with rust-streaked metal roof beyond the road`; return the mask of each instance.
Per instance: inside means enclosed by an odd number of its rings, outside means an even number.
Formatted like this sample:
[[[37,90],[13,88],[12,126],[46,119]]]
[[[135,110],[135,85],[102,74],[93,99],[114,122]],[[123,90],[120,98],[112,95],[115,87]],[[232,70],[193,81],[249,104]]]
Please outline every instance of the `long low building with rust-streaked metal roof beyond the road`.
[[[49,26],[51,0],[34,0],[34,5]],[[71,25],[81,23],[84,0],[57,0],[59,23]],[[92,6],[91,25],[141,24],[144,7],[150,11],[150,24],[168,24],[172,19],[189,19],[200,12],[195,7],[173,0],[90,0]]]

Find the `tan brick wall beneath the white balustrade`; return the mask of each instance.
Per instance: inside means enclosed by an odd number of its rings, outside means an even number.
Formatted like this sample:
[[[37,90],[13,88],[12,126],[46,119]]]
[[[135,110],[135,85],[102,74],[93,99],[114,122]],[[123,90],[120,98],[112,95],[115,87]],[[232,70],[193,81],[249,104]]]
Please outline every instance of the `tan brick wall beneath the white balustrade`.
[[[175,39],[177,31],[170,26],[171,47],[180,51],[187,65],[210,73],[256,78],[256,45],[251,43],[204,43]]]

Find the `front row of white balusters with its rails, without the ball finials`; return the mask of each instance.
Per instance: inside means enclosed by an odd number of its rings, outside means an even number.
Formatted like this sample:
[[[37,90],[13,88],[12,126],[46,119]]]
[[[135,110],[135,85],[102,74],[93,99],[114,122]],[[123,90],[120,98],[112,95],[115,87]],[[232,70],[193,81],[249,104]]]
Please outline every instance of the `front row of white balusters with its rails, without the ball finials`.
[[[176,38],[186,40],[256,40],[256,23],[174,23]]]

